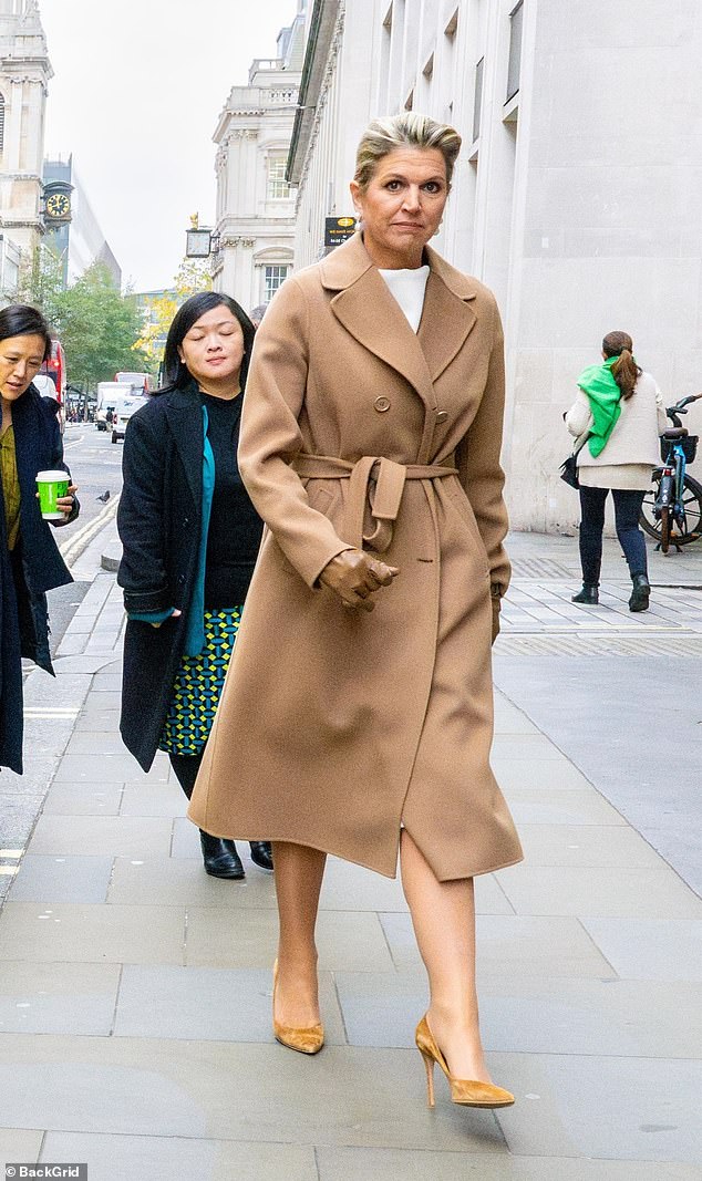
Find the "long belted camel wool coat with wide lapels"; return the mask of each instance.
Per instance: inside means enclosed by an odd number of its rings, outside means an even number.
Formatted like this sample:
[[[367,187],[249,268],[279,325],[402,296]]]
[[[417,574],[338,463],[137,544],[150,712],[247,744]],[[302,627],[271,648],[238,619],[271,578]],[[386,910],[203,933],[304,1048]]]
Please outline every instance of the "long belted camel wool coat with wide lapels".
[[[489,766],[502,333],[492,294],[427,257],[416,335],[359,234],[258,331],[239,463],[267,528],[189,816],[388,876],[404,826],[443,881],[521,848]],[[399,567],[372,613],[317,581],[362,544]]]

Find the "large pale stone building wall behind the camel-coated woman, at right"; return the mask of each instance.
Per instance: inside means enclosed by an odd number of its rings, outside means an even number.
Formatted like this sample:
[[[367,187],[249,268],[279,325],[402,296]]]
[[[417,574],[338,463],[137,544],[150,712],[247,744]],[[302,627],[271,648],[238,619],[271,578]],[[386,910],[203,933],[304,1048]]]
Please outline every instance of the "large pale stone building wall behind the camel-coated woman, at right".
[[[697,0],[316,0],[308,13],[295,265],[323,253],[325,214],[349,210],[368,117],[411,109],[457,128],[434,244],[502,311],[516,528],[578,518],[558,478],[561,416],[605,332],[632,334],[668,404],[702,389],[701,53]]]

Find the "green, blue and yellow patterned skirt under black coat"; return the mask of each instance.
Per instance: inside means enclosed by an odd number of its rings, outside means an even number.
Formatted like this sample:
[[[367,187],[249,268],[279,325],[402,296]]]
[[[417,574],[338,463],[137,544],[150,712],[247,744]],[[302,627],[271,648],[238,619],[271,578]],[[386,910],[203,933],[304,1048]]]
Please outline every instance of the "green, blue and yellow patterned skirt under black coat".
[[[204,645],[200,655],[183,657],[160,750],[169,755],[199,755],[209,738],[243,607],[204,612]]]

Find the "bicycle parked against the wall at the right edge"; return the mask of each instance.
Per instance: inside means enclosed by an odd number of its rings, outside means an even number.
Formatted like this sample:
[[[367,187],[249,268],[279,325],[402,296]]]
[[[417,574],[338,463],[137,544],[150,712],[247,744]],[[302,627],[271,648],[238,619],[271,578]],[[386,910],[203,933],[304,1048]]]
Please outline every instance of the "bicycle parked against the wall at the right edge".
[[[697,454],[697,435],[688,435],[680,415],[687,415],[691,402],[702,393],[681,398],[665,413],[672,422],[661,436],[662,468],[656,468],[651,479],[654,488],[644,496],[639,523],[642,529],[658,542],[657,549],[668,553],[670,546],[678,550],[702,536],[702,484],[688,476],[687,465]]]

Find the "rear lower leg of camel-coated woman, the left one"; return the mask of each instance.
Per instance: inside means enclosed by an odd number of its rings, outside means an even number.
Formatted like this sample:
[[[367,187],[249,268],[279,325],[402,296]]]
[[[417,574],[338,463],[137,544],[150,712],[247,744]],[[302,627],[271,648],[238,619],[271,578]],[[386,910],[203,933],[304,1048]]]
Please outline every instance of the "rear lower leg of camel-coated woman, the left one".
[[[319,1022],[314,926],[326,853],[287,841],[273,843],[280,937],[275,1018],[298,1029]]]

